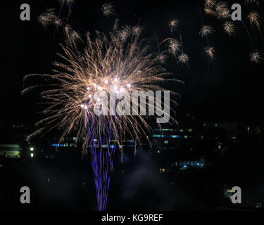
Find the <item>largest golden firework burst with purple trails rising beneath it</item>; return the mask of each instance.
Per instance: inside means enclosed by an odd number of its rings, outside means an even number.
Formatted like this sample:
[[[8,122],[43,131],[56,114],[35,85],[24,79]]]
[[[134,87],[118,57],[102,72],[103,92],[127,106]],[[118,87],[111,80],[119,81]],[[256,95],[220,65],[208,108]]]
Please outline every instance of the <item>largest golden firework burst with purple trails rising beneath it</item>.
[[[136,38],[136,34],[130,32],[124,41],[119,34],[125,28],[108,35],[97,32],[95,39],[87,33],[86,41],[79,44],[80,37],[73,37],[74,31],[67,25],[68,44],[62,46],[64,53],[58,54],[62,62],[54,63],[54,74],[25,76],[25,84],[34,77],[43,79],[46,89],[42,89],[40,95],[48,104],[43,111],[44,119],[36,124],[39,129],[28,138],[53,129],[61,131],[61,140],[75,134],[83,152],[91,154],[99,210],[106,209],[115,148],[122,152],[120,143],[127,137],[134,139],[136,147],[151,130],[150,115],[125,113],[127,109],[123,109],[123,104],[127,98],[122,99],[122,93],[162,91],[164,82],[180,82],[170,78],[171,74],[158,61],[158,54],[149,53],[149,44],[141,41],[139,35]],[[28,86],[23,94],[43,86]],[[103,105],[112,95],[115,96],[112,103],[117,105],[116,114],[108,104]],[[149,96],[151,101],[154,97]],[[156,104],[161,105],[157,101]],[[106,114],[98,115],[95,110]]]

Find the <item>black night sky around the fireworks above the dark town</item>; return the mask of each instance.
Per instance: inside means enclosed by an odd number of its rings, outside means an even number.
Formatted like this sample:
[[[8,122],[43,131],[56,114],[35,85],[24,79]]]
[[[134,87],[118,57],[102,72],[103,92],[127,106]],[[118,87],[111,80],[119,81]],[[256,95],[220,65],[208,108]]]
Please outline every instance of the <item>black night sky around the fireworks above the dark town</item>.
[[[81,32],[94,30],[109,32],[114,18],[103,17],[100,8],[105,1],[76,0],[70,25]],[[144,37],[155,43],[154,30],[158,41],[170,34],[168,21],[180,20],[180,30],[184,51],[190,57],[189,69],[177,65],[170,59],[166,66],[175,78],[182,79],[182,101],[178,114],[192,113],[200,120],[229,120],[236,122],[263,122],[263,68],[249,60],[249,54],[258,49],[264,52],[264,41],[248,21],[246,26],[252,36],[241,24],[235,37],[229,37],[222,29],[217,18],[204,15],[206,24],[211,25],[215,33],[209,37],[210,45],[215,47],[216,60],[210,63],[207,72],[207,58],[202,53],[206,39],[199,36],[201,17],[199,6],[203,1],[112,1],[116,7],[115,18],[121,24],[140,25],[145,28]],[[230,1],[240,3],[241,1]],[[31,6],[31,20],[20,20],[20,4]],[[56,60],[56,51],[60,51],[59,42],[63,43],[63,32],[56,34],[52,42],[54,27],[47,30],[37,21],[37,16],[46,8],[55,8],[58,13],[58,1],[4,1],[1,3],[1,117],[0,121],[20,124],[32,124],[37,120],[38,96],[21,96],[23,76],[30,73],[49,73],[51,63]],[[260,4],[263,4],[261,2]],[[263,6],[263,5],[262,5]],[[67,17],[67,7],[62,11],[62,18]],[[249,13],[249,8],[242,8],[242,13]],[[258,13],[263,16],[263,7]],[[245,18],[245,15],[243,15]],[[153,45],[153,51],[155,45]],[[177,91],[177,90],[175,90]]]

